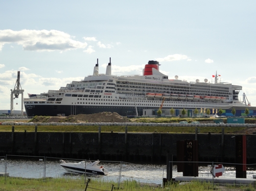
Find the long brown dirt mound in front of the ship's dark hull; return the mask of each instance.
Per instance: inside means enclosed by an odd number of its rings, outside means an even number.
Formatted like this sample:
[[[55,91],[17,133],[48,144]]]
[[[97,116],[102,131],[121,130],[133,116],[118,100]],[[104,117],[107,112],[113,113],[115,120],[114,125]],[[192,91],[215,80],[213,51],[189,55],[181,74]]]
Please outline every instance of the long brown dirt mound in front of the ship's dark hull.
[[[80,122],[116,122],[125,123],[130,122],[130,119],[123,117],[117,113],[102,112],[98,114],[79,114],[79,115],[69,115],[69,116],[57,116],[57,117],[42,117],[33,119],[33,122],[69,122],[69,123],[80,123]]]

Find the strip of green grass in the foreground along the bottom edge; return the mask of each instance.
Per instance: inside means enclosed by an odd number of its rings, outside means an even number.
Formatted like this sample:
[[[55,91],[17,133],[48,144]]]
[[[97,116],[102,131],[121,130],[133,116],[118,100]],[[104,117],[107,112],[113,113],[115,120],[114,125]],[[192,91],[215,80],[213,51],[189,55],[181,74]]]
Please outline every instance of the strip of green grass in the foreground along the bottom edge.
[[[78,177],[76,179],[67,178],[48,178],[43,179],[24,179],[24,178],[12,178],[0,177],[0,191],[84,191],[86,185],[82,178]],[[118,190],[116,182],[103,182],[100,180],[91,180],[87,190],[104,190],[111,191],[112,185],[114,185],[114,190]],[[174,182],[173,184],[166,185],[162,188],[155,184],[140,184],[136,181],[124,181],[121,182],[119,190],[122,191],[212,191],[212,190],[245,190],[254,191],[253,185],[226,185],[219,186],[207,182],[189,182],[186,184],[179,184]]]

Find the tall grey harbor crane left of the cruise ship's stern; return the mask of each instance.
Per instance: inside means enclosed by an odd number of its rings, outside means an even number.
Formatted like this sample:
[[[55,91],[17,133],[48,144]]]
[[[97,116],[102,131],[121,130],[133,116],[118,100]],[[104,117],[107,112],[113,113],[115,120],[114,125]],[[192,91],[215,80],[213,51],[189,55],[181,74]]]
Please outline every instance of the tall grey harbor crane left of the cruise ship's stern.
[[[13,113],[14,113],[13,100],[15,98],[19,98],[20,94],[22,95],[22,100],[21,100],[22,112],[21,112],[21,115],[23,115],[23,92],[24,92],[24,90],[22,89],[22,86],[21,86],[21,83],[20,83],[20,76],[21,76],[21,71],[18,71],[18,76],[17,76],[17,80],[16,80],[16,83],[15,83],[14,89],[13,90],[11,89],[11,115],[13,115]]]

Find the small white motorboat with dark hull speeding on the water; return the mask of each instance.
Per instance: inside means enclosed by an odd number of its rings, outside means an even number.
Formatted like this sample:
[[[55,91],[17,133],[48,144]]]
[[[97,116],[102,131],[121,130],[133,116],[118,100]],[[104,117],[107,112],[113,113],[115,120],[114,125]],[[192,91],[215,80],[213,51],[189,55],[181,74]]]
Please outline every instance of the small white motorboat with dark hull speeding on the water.
[[[98,160],[94,162],[85,162],[85,161],[68,161],[68,160],[60,160],[62,166],[68,172],[76,172],[80,174],[94,174],[94,175],[107,175],[108,171],[103,167],[99,166]],[[85,164],[86,163],[86,164]]]

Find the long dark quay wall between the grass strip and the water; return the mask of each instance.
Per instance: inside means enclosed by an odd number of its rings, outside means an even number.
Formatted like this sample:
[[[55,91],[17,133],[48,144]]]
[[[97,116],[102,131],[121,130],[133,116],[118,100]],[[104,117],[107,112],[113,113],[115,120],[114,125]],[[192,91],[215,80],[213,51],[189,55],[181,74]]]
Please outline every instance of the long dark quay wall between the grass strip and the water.
[[[0,156],[34,155],[165,163],[178,140],[198,140],[199,161],[234,162],[235,135],[160,133],[0,132]],[[247,162],[256,163],[256,135],[246,135]]]

